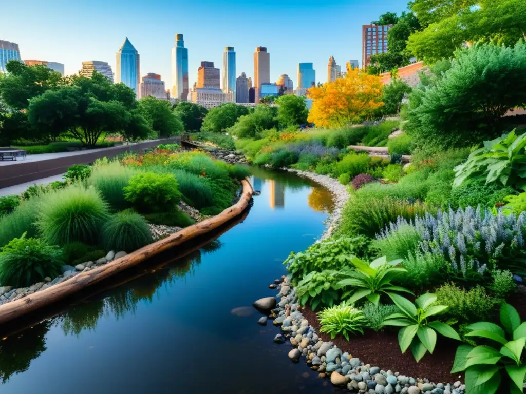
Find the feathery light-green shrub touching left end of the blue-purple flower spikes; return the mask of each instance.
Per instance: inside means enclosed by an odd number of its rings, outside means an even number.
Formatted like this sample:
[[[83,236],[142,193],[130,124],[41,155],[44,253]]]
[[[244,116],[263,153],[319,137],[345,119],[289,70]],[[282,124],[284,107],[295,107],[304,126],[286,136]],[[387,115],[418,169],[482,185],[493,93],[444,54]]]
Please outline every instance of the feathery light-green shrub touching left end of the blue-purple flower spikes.
[[[380,255],[387,256],[388,260],[395,260],[408,257],[416,250],[420,240],[420,234],[413,226],[401,225],[395,231],[382,231],[372,246],[380,250]]]

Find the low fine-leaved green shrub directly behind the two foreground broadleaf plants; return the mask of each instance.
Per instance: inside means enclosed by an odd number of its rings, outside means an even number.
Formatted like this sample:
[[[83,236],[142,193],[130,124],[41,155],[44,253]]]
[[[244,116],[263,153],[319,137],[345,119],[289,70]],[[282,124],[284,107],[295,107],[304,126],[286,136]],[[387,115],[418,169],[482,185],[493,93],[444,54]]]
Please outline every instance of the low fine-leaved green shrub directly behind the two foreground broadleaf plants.
[[[466,290],[446,283],[437,289],[435,295],[440,304],[449,306],[448,316],[458,319],[459,323],[489,319],[495,304],[499,303],[497,298],[488,296],[482,286]]]

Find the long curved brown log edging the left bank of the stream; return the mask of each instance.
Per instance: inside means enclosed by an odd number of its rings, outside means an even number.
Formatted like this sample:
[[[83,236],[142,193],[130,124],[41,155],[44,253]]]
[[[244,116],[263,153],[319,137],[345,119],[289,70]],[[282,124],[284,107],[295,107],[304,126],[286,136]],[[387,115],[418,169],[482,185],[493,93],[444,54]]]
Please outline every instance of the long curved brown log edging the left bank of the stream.
[[[0,306],[0,325],[63,300],[89,286],[93,286],[103,281],[104,279],[122,273],[128,268],[135,267],[150,257],[217,229],[217,227],[222,224],[234,219],[247,208],[252,196],[252,186],[250,185],[250,182],[242,180],[241,183],[243,190],[239,201],[230,206],[230,208],[222,211],[220,214],[210,217],[203,222],[186,227],[177,233],[171,234],[165,239],[141,247],[135,252],[117,258],[117,260],[103,266],[92,269],[88,272],[80,273],[67,279],[67,281],[48,287],[43,291]]]

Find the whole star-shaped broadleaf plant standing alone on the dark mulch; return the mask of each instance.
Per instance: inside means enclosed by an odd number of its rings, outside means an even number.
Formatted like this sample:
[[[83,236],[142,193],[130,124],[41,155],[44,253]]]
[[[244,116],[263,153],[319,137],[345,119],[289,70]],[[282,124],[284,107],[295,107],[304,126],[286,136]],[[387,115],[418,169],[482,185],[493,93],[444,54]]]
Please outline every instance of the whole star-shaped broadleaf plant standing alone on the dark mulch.
[[[422,294],[416,299],[416,305],[398,294],[389,294],[401,313],[387,316],[384,326],[403,327],[398,333],[398,343],[402,353],[410,347],[415,360],[420,361],[429,351],[433,353],[437,344],[437,332],[444,337],[460,340],[457,331],[446,323],[429,320],[430,317],[446,312],[448,306],[436,305],[437,296]]]

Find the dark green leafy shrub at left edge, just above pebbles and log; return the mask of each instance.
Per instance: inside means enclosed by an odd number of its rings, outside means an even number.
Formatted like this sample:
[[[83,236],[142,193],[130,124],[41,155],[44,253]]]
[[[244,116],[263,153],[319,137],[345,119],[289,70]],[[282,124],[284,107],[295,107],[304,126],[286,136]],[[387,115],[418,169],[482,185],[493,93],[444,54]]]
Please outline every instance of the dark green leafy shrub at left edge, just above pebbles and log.
[[[5,245],[0,252],[0,285],[28,287],[62,272],[62,250],[24,233]]]

